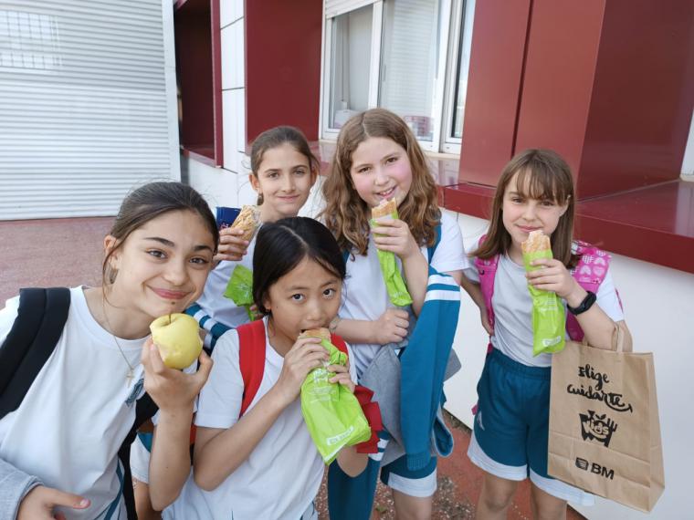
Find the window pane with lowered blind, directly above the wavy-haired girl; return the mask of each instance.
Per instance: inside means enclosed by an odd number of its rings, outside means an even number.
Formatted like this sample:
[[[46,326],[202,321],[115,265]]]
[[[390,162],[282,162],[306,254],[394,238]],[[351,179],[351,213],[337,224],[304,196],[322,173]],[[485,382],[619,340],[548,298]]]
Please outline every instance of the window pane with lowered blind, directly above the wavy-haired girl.
[[[439,0],[384,2],[379,106],[393,110],[419,140],[433,140],[440,50]]]

